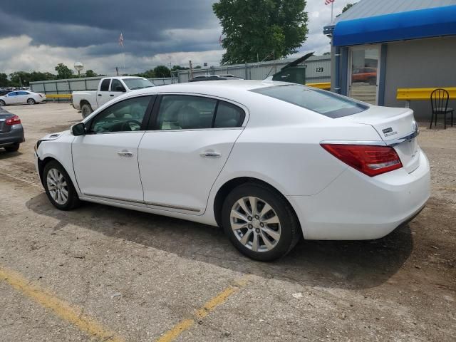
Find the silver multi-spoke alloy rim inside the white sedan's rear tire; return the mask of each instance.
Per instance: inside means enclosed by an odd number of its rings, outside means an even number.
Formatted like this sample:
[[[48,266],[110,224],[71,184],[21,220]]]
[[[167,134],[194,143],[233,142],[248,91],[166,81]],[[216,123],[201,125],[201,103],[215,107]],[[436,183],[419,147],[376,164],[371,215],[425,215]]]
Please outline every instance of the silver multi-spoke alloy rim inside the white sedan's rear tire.
[[[230,223],[239,242],[254,252],[269,252],[279,242],[279,217],[268,203],[258,197],[242,197],[235,202]]]

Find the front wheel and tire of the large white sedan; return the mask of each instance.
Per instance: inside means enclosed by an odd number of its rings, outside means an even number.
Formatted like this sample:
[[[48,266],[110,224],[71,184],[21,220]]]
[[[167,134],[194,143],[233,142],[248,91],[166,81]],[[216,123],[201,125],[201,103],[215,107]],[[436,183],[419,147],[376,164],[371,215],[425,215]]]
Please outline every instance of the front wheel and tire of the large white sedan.
[[[81,204],[70,176],[55,160],[44,166],[43,186],[49,201],[57,209],[70,210]]]

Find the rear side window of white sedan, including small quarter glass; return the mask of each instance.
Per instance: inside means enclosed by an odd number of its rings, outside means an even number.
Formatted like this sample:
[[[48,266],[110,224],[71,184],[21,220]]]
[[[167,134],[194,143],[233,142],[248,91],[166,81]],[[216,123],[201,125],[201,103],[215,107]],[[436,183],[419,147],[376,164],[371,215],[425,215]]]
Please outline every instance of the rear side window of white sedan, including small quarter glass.
[[[244,110],[224,101],[193,95],[163,95],[157,129],[235,128],[242,125],[244,118]]]

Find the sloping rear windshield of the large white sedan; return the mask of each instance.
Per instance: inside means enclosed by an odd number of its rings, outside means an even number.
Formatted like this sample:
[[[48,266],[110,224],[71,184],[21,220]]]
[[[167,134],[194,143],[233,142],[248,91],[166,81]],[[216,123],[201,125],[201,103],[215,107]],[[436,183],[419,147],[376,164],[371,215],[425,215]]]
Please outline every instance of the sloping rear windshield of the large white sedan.
[[[250,91],[299,105],[299,107],[313,110],[328,118],[341,118],[360,113],[369,108],[367,105],[349,98],[343,98],[329,91],[300,86],[299,84],[285,84]]]

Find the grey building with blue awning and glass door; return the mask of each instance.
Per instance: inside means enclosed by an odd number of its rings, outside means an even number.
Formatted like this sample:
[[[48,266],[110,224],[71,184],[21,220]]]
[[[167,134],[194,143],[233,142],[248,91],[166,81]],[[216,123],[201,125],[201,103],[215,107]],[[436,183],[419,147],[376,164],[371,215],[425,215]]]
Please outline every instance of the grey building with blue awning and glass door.
[[[336,93],[403,106],[398,88],[456,87],[456,0],[361,0],[323,33]],[[430,118],[429,101],[410,107]]]

